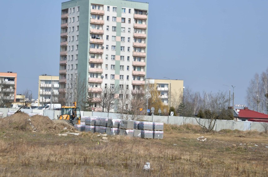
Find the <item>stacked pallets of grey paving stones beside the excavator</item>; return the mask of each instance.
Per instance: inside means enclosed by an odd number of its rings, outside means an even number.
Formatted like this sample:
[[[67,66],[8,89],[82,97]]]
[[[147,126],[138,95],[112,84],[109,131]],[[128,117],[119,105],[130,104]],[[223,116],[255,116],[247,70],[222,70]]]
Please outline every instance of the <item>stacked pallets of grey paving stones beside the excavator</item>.
[[[84,128],[82,128],[84,127]],[[164,123],[112,119],[110,117],[81,117],[79,131],[126,135],[129,137],[163,139]]]

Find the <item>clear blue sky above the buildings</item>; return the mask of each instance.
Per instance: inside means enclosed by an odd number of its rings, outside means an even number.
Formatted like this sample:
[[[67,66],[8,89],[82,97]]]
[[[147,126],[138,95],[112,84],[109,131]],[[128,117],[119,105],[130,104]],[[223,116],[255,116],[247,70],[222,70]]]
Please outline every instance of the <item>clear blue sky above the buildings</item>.
[[[138,1],[149,3],[147,78],[180,79],[201,93],[235,86],[234,103],[246,105],[249,81],[268,67],[268,1]],[[38,76],[59,75],[62,2],[1,3],[0,72],[18,73],[17,94],[37,99]]]

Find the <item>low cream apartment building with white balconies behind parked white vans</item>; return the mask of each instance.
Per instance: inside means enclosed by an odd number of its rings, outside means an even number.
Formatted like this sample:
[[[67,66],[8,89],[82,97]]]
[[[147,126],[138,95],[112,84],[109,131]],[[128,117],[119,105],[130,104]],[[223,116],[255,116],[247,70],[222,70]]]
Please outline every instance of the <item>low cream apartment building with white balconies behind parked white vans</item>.
[[[38,106],[59,102],[59,76],[39,75]]]

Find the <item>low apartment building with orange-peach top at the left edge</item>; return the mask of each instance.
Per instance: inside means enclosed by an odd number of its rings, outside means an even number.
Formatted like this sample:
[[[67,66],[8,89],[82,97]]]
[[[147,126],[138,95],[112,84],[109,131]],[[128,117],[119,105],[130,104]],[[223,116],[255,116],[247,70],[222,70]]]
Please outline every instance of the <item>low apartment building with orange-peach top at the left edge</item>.
[[[0,105],[9,106],[16,100],[17,73],[0,72]]]

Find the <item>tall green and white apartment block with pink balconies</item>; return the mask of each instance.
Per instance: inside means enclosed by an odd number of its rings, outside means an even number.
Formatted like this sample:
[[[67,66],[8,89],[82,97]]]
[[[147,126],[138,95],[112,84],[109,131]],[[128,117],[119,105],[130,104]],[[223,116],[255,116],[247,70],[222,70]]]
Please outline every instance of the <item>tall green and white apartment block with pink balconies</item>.
[[[148,3],[126,0],[72,0],[62,3],[59,92],[82,81],[95,97],[105,87],[145,85]],[[137,92],[136,92],[137,93]],[[67,105],[68,105],[67,104]],[[94,107],[99,107],[98,99]],[[96,109],[98,110],[98,109]]]

